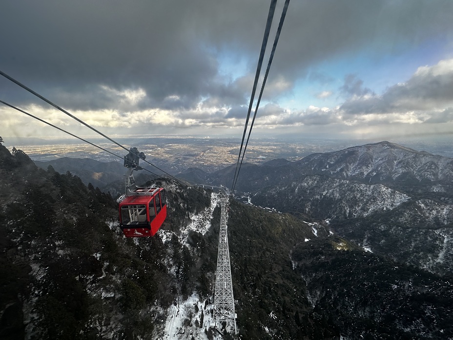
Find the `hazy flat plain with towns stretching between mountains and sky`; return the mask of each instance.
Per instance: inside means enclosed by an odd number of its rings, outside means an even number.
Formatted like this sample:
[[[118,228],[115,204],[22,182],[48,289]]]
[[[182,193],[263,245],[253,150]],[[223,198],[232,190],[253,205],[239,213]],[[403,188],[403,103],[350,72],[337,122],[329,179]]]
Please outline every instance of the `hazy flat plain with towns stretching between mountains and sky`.
[[[241,139],[204,136],[116,136],[117,142],[126,148],[137,147],[144,151],[147,157],[153,157],[154,162],[176,162],[189,159],[185,155],[193,152],[215,154],[212,164],[233,164],[237,160]],[[114,145],[104,138],[90,138],[90,142],[114,152],[120,156],[126,153],[124,149]],[[254,138],[251,139],[244,158],[246,163],[260,164],[265,161],[285,158],[298,160],[311,153],[331,152],[365,144],[374,144],[379,140],[357,139],[322,139],[322,138]],[[416,151],[444,157],[453,157],[451,143],[442,139],[405,139],[389,140],[388,142],[411,148]],[[99,161],[121,161],[105,151],[95,148],[75,138],[67,139],[37,139],[37,138],[3,138],[7,148],[22,149],[31,159],[47,161],[62,157],[93,158]],[[156,150],[156,151],[155,151]],[[223,155],[223,156],[222,156]],[[227,155],[227,156],[226,156]],[[208,162],[212,165],[210,162]]]

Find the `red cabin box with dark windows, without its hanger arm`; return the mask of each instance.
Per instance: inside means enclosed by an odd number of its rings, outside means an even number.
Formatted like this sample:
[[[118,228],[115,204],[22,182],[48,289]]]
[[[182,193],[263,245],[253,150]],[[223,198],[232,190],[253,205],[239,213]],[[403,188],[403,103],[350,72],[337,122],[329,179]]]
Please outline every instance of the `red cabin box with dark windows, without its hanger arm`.
[[[120,203],[120,227],[126,237],[154,236],[167,216],[163,188],[137,188]]]

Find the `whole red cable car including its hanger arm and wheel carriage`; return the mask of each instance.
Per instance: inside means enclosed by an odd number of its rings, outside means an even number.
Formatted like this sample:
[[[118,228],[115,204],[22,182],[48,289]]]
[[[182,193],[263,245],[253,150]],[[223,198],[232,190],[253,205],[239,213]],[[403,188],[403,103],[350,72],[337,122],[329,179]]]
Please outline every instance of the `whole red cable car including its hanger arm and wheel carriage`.
[[[125,179],[126,197],[120,203],[120,227],[126,237],[154,236],[167,216],[165,190],[154,187],[137,187],[132,171],[140,170],[139,158],[144,153],[137,148],[124,156],[124,166],[129,168]]]

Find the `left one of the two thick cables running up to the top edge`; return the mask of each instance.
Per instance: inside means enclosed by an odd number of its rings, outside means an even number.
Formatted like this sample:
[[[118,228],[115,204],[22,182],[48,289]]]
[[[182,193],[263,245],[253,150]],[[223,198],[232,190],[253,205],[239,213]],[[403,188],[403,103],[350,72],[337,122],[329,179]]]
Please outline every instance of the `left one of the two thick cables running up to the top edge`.
[[[251,96],[250,96],[250,103],[248,104],[247,119],[246,119],[246,124],[244,125],[244,133],[243,133],[243,136],[242,136],[241,148],[239,149],[238,161],[236,163],[236,170],[234,171],[233,183],[231,185],[231,194],[233,194],[232,188],[235,186],[235,182],[237,180],[237,172],[238,172],[238,168],[239,168],[239,162],[241,160],[242,148],[244,146],[244,140],[246,139],[248,120],[250,119],[250,113],[251,113],[251,110],[252,110],[253,101],[255,99],[256,87],[258,85],[258,80],[260,78],[261,66],[263,65],[264,53],[266,52],[266,46],[268,44],[270,26],[272,25],[272,19],[274,17],[276,4],[277,4],[277,0],[271,0],[270,1],[270,7],[269,7],[269,12],[268,12],[268,20],[266,22],[266,29],[264,31],[263,43],[261,44],[261,52],[260,52],[260,57],[258,59],[258,65],[256,66],[255,81],[253,82],[253,89],[252,89],[252,93],[251,93]]]

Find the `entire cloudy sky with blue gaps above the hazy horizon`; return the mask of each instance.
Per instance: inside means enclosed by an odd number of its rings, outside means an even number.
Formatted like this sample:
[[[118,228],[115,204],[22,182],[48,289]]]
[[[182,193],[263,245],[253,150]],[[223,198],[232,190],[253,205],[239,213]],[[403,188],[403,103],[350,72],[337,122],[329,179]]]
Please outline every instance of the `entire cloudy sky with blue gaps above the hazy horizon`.
[[[112,136],[241,137],[269,3],[2,1],[0,70]],[[451,0],[292,0],[252,137],[452,139],[452,16]],[[92,134],[1,76],[0,99]],[[3,137],[59,134],[0,116]]]

